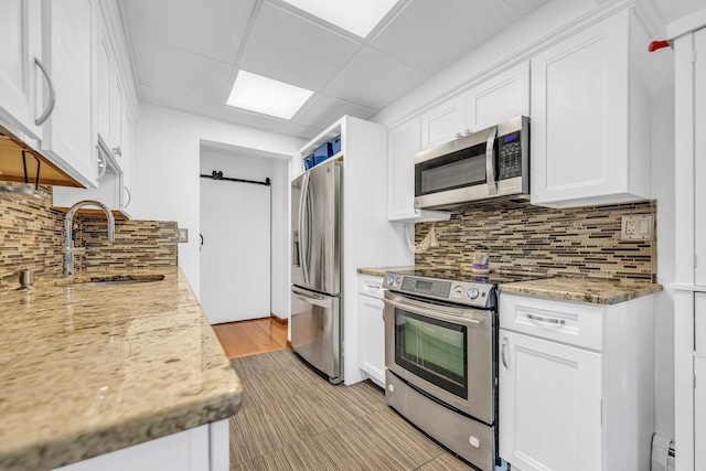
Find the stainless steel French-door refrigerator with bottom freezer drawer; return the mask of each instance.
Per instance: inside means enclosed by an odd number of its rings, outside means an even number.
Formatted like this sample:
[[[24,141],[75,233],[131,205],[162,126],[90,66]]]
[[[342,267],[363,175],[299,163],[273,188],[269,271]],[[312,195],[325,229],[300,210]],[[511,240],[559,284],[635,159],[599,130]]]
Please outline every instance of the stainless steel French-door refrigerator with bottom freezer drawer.
[[[331,160],[291,183],[291,346],[334,384],[343,381],[342,174]]]

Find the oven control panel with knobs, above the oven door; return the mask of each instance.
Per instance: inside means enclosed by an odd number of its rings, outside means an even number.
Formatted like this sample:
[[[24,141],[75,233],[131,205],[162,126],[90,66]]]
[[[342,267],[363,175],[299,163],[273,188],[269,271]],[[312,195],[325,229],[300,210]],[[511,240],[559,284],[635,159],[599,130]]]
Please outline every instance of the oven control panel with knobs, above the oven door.
[[[387,272],[384,287],[398,292],[440,299],[477,308],[493,307],[491,300],[492,283],[450,281],[436,278]]]

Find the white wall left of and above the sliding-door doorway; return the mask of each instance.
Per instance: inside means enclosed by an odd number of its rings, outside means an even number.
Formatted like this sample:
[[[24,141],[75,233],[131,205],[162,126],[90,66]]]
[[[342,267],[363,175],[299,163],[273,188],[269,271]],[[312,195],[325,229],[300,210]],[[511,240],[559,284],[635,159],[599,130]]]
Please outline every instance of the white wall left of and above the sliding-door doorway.
[[[179,265],[196,296],[200,291],[199,205],[202,140],[293,156],[303,139],[141,103],[135,129],[135,217],[176,221],[189,228],[179,244]]]

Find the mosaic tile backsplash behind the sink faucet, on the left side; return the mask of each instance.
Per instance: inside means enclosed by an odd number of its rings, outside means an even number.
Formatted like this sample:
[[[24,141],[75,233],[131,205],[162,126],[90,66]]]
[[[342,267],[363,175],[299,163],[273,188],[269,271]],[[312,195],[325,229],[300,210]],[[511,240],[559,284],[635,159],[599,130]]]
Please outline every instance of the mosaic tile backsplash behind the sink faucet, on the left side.
[[[0,289],[19,287],[21,269],[34,271],[42,282],[62,276],[64,212],[46,200],[0,194]],[[76,246],[87,250],[75,257],[76,274],[176,266],[176,223],[116,221],[115,242],[107,239],[105,218],[74,217]]]

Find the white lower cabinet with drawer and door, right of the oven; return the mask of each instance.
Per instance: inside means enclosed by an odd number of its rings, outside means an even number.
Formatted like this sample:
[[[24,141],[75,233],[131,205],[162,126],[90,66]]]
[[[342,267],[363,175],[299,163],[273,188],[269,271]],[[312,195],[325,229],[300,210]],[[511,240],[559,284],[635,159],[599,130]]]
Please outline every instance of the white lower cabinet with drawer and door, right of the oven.
[[[522,471],[650,469],[653,296],[499,303],[501,458]]]

